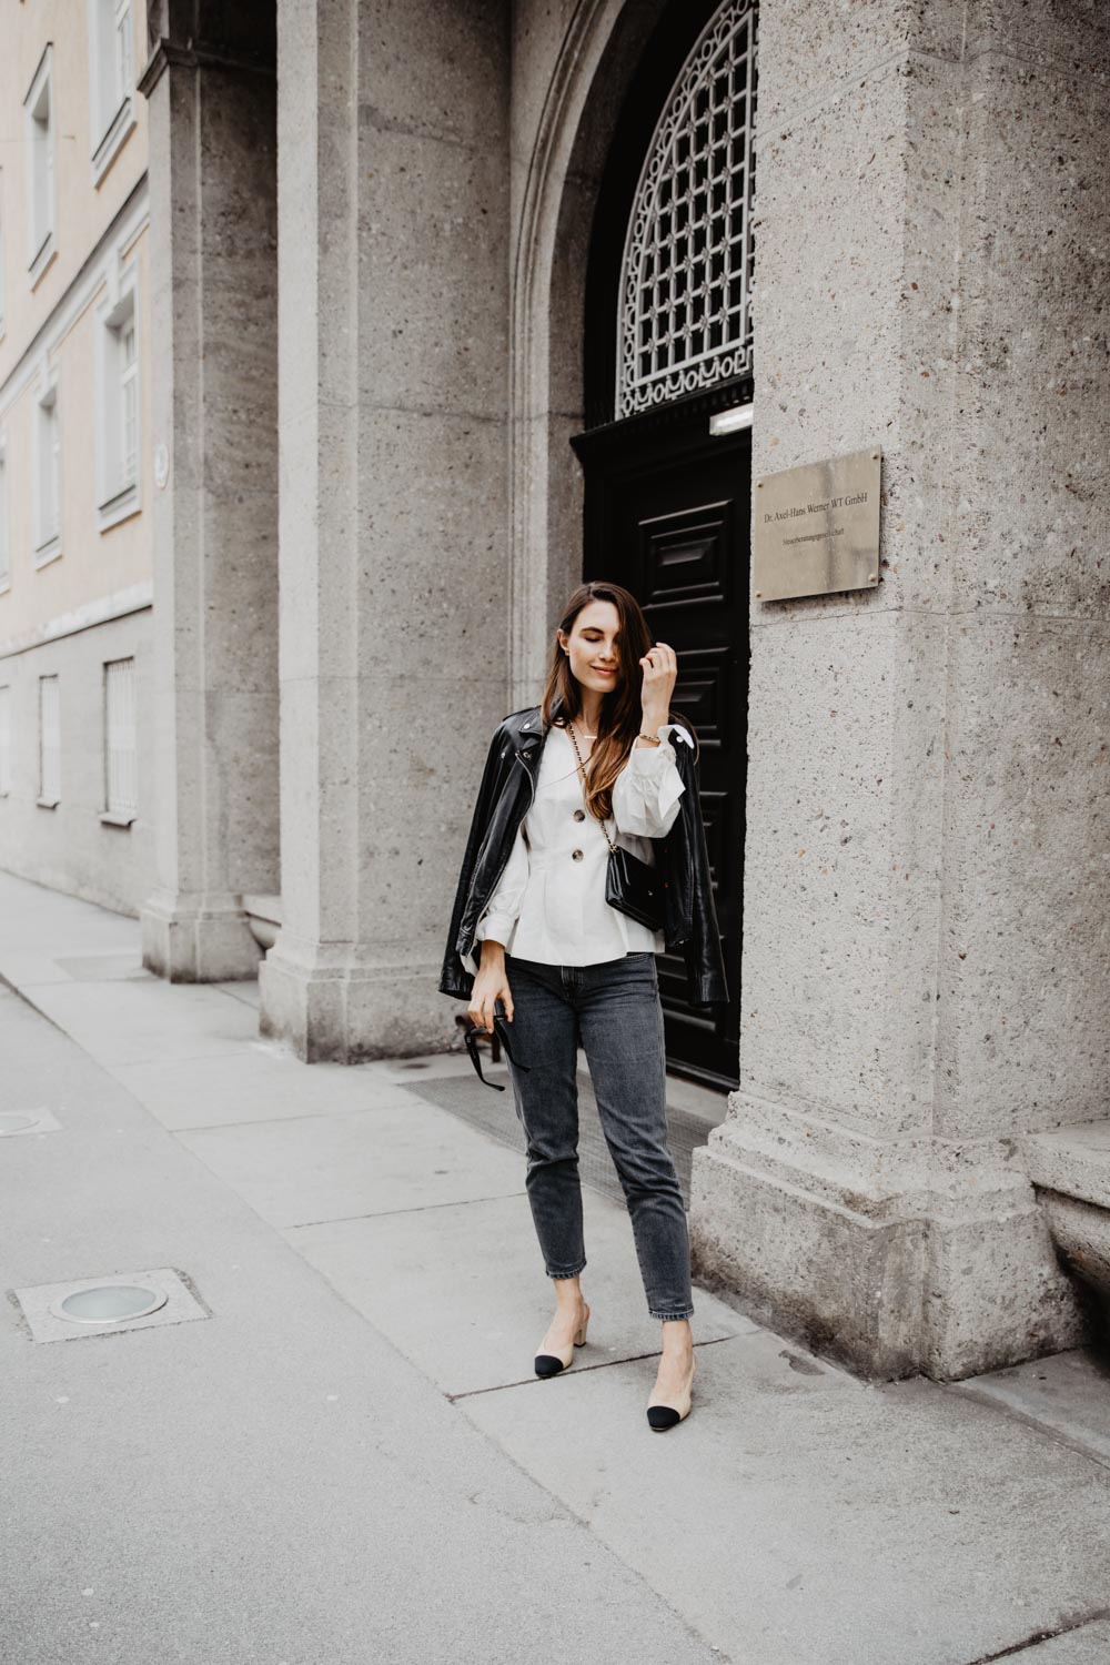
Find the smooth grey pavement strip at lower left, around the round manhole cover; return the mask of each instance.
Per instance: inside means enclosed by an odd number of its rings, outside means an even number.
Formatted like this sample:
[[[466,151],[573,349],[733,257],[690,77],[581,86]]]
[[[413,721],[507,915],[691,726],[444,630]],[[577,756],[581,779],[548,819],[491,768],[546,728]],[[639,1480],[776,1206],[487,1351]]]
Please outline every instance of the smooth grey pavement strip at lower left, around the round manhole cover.
[[[0,1046],[63,1124],[0,1146],[5,1665],[717,1658],[8,991]],[[151,1265],[208,1320],[40,1345],[8,1292]]]

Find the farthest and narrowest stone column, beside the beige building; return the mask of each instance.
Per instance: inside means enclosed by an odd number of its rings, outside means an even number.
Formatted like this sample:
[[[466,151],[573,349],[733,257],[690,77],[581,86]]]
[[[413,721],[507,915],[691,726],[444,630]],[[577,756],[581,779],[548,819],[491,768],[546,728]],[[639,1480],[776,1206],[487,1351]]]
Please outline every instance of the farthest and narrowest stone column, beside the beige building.
[[[253,977],[278,889],[273,0],[151,0],[156,874],[143,964]]]

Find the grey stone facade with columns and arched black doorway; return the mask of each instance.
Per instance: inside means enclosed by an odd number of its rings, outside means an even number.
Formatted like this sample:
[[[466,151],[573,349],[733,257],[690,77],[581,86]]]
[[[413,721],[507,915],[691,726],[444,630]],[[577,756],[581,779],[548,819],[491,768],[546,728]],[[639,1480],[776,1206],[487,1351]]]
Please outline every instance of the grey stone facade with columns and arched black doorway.
[[[679,651],[734,1004],[697,1274],[877,1377],[1110,1265],[1105,10],[150,0],[146,964],[446,1047],[494,724],[582,576]],[[759,480],[874,448],[874,588]]]

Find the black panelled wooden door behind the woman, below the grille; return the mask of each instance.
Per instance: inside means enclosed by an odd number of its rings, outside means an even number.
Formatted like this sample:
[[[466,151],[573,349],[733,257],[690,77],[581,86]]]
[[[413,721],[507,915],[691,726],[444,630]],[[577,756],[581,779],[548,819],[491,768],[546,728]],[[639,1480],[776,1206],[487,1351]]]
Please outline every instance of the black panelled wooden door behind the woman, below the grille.
[[[586,471],[582,578],[636,596],[679,661],[672,708],[699,741],[699,786],[731,1004],[714,1019],[686,999],[681,954],[659,956],[667,1064],[736,1087],[747,761],[751,431],[712,438],[712,400],[594,428],[574,440]]]

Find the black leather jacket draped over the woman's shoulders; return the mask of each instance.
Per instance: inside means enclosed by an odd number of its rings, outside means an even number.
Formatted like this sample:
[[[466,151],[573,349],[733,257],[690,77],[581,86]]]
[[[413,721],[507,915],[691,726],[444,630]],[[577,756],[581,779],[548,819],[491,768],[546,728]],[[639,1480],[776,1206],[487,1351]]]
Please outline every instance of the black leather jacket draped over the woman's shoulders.
[[[469,954],[474,946],[478,921],[498,887],[513,851],[516,829],[531,806],[548,733],[541,706],[514,711],[498,724],[463,854],[439,976],[441,994],[451,994],[459,1001],[471,997],[474,979],[463,966],[461,956]],[[651,841],[656,867],[666,881],[666,946],[667,951],[682,951],[691,1006],[727,1006],[729,989],[709,881],[709,851],[697,796],[694,749],[679,743],[674,754],[686,786],[679,799],[681,813],[666,837]]]

